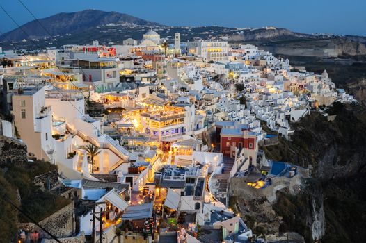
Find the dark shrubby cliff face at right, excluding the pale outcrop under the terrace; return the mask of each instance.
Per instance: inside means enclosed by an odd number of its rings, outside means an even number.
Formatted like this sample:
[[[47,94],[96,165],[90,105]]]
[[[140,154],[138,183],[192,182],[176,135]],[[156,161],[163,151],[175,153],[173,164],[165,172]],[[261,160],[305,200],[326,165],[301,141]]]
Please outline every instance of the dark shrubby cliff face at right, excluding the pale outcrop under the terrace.
[[[280,232],[296,231],[307,242],[320,238],[324,242],[363,242],[365,108],[335,103],[328,112],[336,115],[334,121],[313,113],[294,124],[291,142],[280,140],[280,144],[264,148],[268,158],[312,168],[312,179],[303,192],[295,197],[280,194],[273,207],[283,217]]]

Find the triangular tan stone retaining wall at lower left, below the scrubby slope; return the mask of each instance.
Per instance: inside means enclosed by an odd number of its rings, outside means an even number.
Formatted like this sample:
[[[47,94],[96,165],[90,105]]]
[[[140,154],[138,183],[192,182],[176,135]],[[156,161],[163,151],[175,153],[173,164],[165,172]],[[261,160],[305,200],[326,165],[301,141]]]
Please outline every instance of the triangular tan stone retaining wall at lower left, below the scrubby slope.
[[[49,233],[56,237],[70,237],[72,236],[75,227],[73,214],[74,202],[71,202],[69,205],[43,219],[38,224],[43,228],[46,228]],[[40,238],[49,238],[49,235],[33,223],[19,224],[19,228],[22,228],[25,231],[38,231],[40,233]]]

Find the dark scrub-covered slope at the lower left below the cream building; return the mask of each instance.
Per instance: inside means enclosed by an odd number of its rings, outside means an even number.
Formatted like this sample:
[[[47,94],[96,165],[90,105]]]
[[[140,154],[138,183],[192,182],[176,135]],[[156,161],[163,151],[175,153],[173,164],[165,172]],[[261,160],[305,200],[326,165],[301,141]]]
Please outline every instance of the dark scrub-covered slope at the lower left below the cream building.
[[[4,149],[15,143],[12,149]],[[17,151],[15,151],[15,147]],[[1,137],[0,154],[0,239],[1,242],[11,242],[17,235],[18,223],[28,222],[29,219],[20,214],[8,200],[19,206],[26,215],[36,221],[48,217],[52,213],[66,206],[70,201],[53,194],[47,190],[42,190],[33,184],[32,179],[40,174],[57,169],[49,162],[37,161],[28,162],[26,160],[26,147],[22,144]],[[24,153],[23,153],[24,152]],[[13,160],[8,160],[7,153],[17,153],[12,156]]]

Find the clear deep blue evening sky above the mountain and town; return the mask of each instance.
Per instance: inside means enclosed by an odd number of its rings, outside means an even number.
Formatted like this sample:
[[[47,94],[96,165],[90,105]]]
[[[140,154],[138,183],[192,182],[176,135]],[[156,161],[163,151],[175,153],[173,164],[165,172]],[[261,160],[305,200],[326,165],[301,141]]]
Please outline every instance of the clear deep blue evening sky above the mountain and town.
[[[168,26],[276,26],[299,33],[366,36],[366,0],[0,0],[22,25],[58,12],[86,9],[127,13]],[[0,9],[0,31],[16,28]]]

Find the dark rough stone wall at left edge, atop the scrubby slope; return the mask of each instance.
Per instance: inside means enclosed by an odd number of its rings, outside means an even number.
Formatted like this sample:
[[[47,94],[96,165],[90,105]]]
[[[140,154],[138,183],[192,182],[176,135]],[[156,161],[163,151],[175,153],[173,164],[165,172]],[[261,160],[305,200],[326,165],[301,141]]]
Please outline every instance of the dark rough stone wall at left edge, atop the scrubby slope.
[[[26,144],[14,138],[0,136],[0,164],[27,161]]]

